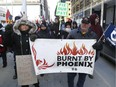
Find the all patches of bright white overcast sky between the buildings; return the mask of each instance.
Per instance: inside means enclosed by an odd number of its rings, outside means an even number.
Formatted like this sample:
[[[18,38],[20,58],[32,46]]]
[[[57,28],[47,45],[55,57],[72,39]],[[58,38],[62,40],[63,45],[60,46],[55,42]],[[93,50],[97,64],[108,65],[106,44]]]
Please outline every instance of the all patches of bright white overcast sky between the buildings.
[[[6,2],[6,0],[4,0]],[[11,2],[12,0],[7,0],[8,2]],[[49,6],[49,10],[50,10],[50,16],[51,19],[54,20],[54,12],[55,12],[55,8],[57,5],[57,2],[59,0],[47,0],[48,1],[48,6]],[[2,6],[0,6],[2,7]],[[4,6],[4,8],[6,8],[6,6]],[[13,17],[20,15],[20,11],[21,11],[22,6],[7,6],[7,9],[9,9],[10,13],[13,15]],[[34,9],[34,10],[33,10]],[[38,6],[28,6],[27,10],[28,10],[28,18],[30,20],[34,20],[37,19],[39,16],[39,7]]]

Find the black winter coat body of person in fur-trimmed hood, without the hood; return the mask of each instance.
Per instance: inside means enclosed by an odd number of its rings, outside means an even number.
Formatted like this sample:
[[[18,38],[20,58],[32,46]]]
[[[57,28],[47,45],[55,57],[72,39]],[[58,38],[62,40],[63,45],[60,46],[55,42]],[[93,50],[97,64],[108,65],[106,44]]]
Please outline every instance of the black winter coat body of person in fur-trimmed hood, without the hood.
[[[21,35],[17,35],[16,33],[13,33],[12,40],[13,40],[12,44],[13,44],[13,50],[15,52],[15,55],[31,54],[28,32],[21,32]]]

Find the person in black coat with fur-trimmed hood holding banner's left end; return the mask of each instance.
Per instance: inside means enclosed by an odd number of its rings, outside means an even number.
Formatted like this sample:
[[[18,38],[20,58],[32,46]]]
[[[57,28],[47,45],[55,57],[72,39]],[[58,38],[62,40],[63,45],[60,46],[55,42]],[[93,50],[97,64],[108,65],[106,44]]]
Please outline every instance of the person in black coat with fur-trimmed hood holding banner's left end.
[[[19,19],[15,22],[13,26],[13,34],[12,34],[12,45],[13,51],[16,56],[30,55],[30,45],[29,45],[29,37],[32,33],[35,33],[37,30],[36,24],[24,20]],[[16,60],[16,59],[15,59]],[[17,77],[17,69],[15,62],[15,76]],[[34,84],[35,87],[39,87],[39,83]],[[21,87],[29,87],[29,85],[22,85]]]

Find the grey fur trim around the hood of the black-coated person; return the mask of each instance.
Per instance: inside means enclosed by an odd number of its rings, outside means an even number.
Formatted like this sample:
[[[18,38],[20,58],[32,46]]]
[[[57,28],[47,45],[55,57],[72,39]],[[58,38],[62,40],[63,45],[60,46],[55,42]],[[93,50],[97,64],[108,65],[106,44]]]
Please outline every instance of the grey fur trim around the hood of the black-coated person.
[[[29,34],[35,33],[37,31],[37,25],[35,23],[29,20],[19,19],[13,26],[13,31],[18,35],[21,35],[21,32],[19,30],[20,25],[28,25],[29,27],[31,27],[30,31],[28,32]]]

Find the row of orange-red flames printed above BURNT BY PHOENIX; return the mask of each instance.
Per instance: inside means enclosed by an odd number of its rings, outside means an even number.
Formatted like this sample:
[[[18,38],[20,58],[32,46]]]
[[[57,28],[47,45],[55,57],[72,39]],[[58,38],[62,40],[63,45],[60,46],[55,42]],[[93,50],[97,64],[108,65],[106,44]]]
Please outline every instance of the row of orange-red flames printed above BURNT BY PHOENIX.
[[[57,55],[94,55],[94,50],[88,51],[84,44],[82,44],[81,48],[78,49],[75,42],[73,43],[73,48],[71,49],[69,44],[66,43],[66,45],[60,49],[60,51],[57,52]]]

